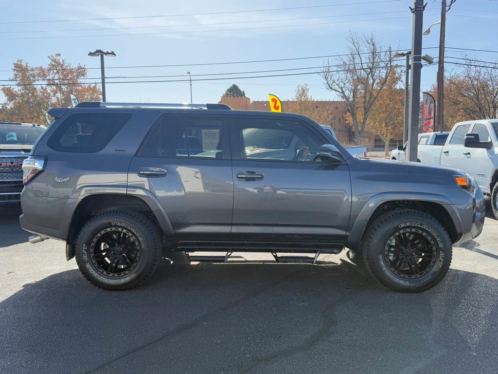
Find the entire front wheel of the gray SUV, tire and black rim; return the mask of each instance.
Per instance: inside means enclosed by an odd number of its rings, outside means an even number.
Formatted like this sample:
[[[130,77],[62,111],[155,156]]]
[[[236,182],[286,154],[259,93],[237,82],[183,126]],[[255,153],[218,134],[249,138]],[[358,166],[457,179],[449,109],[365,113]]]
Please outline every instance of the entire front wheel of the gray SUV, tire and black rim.
[[[452,244],[434,217],[397,209],[368,227],[362,252],[367,268],[382,285],[399,292],[420,292],[446,275]]]

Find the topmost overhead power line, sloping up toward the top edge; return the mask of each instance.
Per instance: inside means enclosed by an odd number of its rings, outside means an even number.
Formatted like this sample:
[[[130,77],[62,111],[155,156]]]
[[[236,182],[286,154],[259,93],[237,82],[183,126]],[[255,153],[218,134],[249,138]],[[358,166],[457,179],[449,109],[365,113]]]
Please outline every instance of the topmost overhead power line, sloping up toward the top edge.
[[[0,22],[0,24],[100,21],[100,20],[106,20],[106,19],[161,18],[161,17],[183,17],[183,16],[193,16],[193,15],[235,14],[235,13],[250,13],[250,12],[261,12],[261,11],[273,11],[273,10],[295,10],[295,9],[325,8],[325,7],[332,7],[332,6],[348,6],[348,5],[361,5],[361,4],[373,4],[373,3],[379,3],[379,2],[398,2],[398,1],[400,1],[400,0],[356,1],[356,2],[347,2],[347,3],[340,3],[340,4],[292,6],[292,7],[285,7],[285,8],[266,8],[266,9],[214,11],[214,12],[204,12],[204,13],[183,13],[183,14],[162,14],[162,15],[134,15],[134,16],[128,16],[128,17],[51,19],[51,20],[32,20],[32,21],[2,21],[2,22]]]

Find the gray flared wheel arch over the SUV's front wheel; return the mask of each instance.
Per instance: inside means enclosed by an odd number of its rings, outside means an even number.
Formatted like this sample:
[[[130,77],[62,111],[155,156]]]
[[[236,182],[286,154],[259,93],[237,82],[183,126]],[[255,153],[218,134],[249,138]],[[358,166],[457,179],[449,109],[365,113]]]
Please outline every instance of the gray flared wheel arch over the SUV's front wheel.
[[[351,227],[346,247],[355,252],[373,220],[387,211],[401,208],[420,210],[433,216],[444,226],[452,243],[463,235],[460,216],[446,196],[435,193],[384,192],[372,196],[363,206]]]

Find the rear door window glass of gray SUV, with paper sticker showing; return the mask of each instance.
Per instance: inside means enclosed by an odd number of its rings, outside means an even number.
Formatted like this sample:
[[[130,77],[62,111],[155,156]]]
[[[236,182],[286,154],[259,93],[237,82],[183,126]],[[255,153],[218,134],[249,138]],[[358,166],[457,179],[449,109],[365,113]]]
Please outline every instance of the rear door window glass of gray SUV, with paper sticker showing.
[[[210,117],[163,117],[140,156],[224,158],[222,123]]]

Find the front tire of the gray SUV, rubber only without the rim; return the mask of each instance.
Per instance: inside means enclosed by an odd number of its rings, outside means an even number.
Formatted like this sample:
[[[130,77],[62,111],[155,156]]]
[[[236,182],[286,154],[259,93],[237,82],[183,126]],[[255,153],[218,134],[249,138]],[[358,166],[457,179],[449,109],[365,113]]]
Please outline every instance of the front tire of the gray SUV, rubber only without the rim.
[[[421,232],[435,247],[435,263],[420,278],[406,279],[395,274],[387,265],[384,250],[391,235],[399,230]],[[399,292],[421,292],[438,284],[451,264],[452,243],[434,217],[413,209],[397,209],[384,213],[367,228],[361,249],[367,269],[383,286]]]

